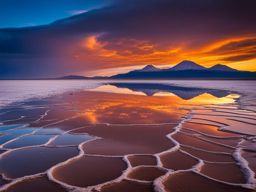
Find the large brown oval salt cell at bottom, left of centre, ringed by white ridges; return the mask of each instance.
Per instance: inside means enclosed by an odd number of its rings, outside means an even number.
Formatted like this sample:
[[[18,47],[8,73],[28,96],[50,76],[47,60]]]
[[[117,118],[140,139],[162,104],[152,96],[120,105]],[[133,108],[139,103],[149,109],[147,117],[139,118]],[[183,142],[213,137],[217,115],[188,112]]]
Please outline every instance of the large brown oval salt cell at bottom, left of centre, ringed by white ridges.
[[[120,157],[82,156],[68,166],[56,168],[53,176],[69,185],[88,187],[113,180],[126,168],[126,163]]]

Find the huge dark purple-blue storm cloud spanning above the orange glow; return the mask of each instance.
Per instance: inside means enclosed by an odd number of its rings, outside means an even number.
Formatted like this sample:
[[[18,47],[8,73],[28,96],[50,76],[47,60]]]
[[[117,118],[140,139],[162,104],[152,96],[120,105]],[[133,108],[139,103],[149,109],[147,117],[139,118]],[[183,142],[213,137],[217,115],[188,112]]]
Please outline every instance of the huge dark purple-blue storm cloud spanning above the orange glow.
[[[255,7],[255,0],[116,0],[108,7],[50,25],[0,29],[0,75],[5,76],[3,71],[6,67],[10,65],[9,68],[13,69],[17,67],[16,63],[19,63],[18,68],[32,68],[33,75],[37,76],[41,75],[41,68],[44,71],[55,69],[56,74],[65,70],[72,72],[75,70],[72,68],[74,63],[65,63],[63,60],[59,62],[54,56],[64,57],[69,47],[75,46],[89,34],[101,34],[99,39],[108,42],[108,49],[117,49],[118,45],[111,42],[122,39],[150,41],[162,48],[186,42],[189,48],[197,48],[230,36],[255,35]],[[255,41],[243,43],[246,46]],[[5,57],[3,64],[1,54],[4,53],[8,53],[11,59]],[[28,58],[20,59],[17,54],[25,54]],[[48,63],[52,65],[35,63],[47,56]],[[59,66],[52,67],[53,65]],[[88,68],[86,62],[83,63],[84,70],[92,70],[91,66]],[[99,69],[100,66],[96,63],[95,68]],[[81,70],[81,66],[78,69]],[[31,71],[13,70],[11,75],[29,77]]]

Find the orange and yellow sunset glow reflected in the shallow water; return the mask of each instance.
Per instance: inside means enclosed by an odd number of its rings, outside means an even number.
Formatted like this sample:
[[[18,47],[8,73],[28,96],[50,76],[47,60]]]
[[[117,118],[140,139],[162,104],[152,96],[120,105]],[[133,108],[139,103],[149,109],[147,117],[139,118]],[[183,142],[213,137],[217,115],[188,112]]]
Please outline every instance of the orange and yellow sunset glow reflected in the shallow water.
[[[101,91],[103,91],[102,89]],[[183,100],[175,95],[143,96],[121,93],[88,91],[84,94],[71,96],[73,105],[88,122],[95,123],[160,123],[181,117],[185,113],[178,108],[189,105],[225,104],[234,102],[235,95],[216,98],[202,94],[190,100]],[[127,92],[128,93],[128,92]]]

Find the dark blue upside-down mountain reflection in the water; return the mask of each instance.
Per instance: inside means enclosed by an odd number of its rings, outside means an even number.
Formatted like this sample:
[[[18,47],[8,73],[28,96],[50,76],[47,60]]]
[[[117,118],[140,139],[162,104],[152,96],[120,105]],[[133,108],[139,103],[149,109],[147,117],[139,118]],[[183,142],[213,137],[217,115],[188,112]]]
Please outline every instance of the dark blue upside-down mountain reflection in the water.
[[[109,83],[109,85],[113,85],[118,88],[128,88],[132,91],[143,92],[147,96],[153,96],[154,94],[160,92],[169,92],[185,100],[192,99],[203,93],[209,93],[215,97],[225,97],[229,95],[229,92],[224,90],[179,87],[157,83]]]

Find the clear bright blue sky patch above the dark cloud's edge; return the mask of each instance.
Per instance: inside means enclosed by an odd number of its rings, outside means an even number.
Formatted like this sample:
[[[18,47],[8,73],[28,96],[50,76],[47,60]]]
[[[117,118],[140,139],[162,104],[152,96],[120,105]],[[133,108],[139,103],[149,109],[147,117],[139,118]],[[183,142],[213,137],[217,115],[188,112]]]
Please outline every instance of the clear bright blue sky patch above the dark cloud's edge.
[[[102,0],[0,0],[0,28],[45,25],[106,5]]]

